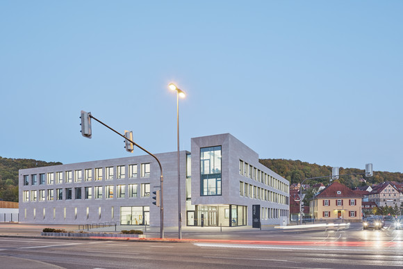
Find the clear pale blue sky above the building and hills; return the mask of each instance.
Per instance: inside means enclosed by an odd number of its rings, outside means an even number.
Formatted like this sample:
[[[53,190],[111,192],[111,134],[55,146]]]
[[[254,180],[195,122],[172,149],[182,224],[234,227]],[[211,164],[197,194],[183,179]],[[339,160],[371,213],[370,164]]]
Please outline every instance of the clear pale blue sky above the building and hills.
[[[0,1],[0,156],[76,163],[231,133],[260,158],[403,172],[403,1]],[[143,154],[139,149],[135,154]]]

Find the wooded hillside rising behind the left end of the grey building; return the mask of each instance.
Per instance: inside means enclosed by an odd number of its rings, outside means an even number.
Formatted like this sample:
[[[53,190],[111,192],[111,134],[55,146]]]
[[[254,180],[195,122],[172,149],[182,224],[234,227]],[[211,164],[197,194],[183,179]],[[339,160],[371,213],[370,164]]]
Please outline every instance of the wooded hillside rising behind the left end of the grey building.
[[[60,165],[62,163],[36,161],[27,158],[0,157],[0,199],[18,202],[18,170],[41,166]]]

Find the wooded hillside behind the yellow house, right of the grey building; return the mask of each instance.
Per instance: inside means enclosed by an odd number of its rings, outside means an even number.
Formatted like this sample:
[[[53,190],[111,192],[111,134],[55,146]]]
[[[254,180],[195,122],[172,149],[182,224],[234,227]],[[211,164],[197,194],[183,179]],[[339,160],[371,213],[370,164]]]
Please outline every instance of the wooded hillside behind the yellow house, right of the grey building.
[[[299,160],[293,161],[275,158],[261,159],[260,162],[277,174],[281,175],[281,177],[288,179],[291,184],[298,183],[302,179],[309,177],[322,177],[328,174],[329,176],[331,175],[331,166],[327,165],[317,165],[316,163],[306,163]],[[364,170],[356,168],[340,168],[340,174],[354,174],[363,172]],[[365,178],[361,175],[340,177],[340,183],[349,186],[349,188],[353,188],[363,185],[359,179],[367,180],[367,185],[379,184],[384,181],[402,182],[403,174],[399,172],[375,171],[374,177]],[[326,183],[329,182],[329,179],[311,179],[305,181],[305,184],[313,185],[319,182],[322,182],[324,185],[326,185]]]

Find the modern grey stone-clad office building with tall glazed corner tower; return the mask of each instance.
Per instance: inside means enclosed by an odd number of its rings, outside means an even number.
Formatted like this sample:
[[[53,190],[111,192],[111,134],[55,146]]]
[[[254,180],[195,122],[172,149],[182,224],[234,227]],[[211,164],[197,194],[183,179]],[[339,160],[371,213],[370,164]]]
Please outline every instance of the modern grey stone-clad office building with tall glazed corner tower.
[[[155,154],[164,179],[164,226],[178,225],[176,152]],[[160,225],[152,202],[160,168],[149,155],[19,170],[19,221],[49,224]],[[289,182],[259,163],[229,133],[192,138],[180,152],[182,225],[262,225],[289,219]]]

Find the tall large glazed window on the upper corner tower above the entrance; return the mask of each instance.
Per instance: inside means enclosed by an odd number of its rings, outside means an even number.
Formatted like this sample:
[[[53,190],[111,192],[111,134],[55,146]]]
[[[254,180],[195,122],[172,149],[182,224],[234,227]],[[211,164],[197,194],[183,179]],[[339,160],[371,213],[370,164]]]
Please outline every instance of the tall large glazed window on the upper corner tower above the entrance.
[[[200,149],[200,193],[221,195],[221,146]]]

